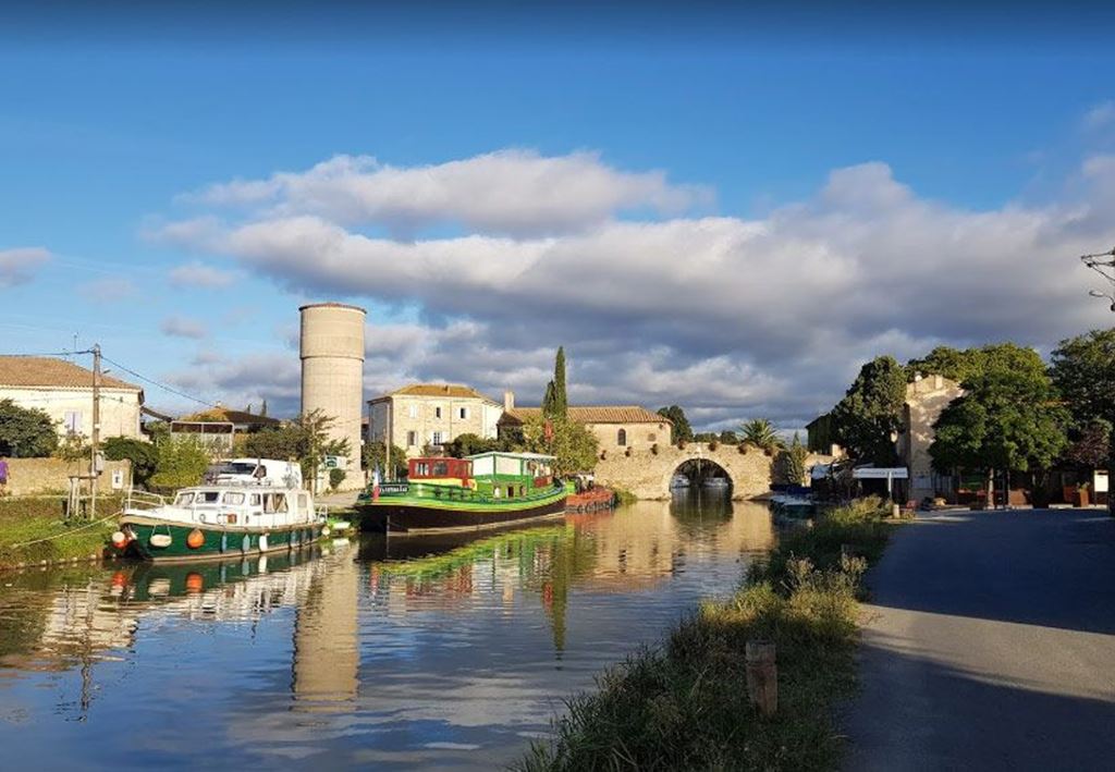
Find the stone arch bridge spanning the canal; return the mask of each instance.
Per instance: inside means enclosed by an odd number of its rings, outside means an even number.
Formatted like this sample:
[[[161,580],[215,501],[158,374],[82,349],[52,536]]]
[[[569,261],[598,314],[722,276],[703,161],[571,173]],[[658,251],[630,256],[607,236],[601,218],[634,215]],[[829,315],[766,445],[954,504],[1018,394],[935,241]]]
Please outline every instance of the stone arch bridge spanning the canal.
[[[754,499],[770,490],[776,480],[776,464],[773,456],[756,447],[740,452],[738,445],[718,443],[712,450],[707,443],[687,443],[685,447],[669,445],[650,450],[629,452],[608,450],[597,462],[597,482],[609,488],[630,491],[639,499],[669,499],[670,479],[687,461],[700,459],[716,464],[731,481],[731,498]],[[806,467],[826,463],[831,456],[811,454]]]

